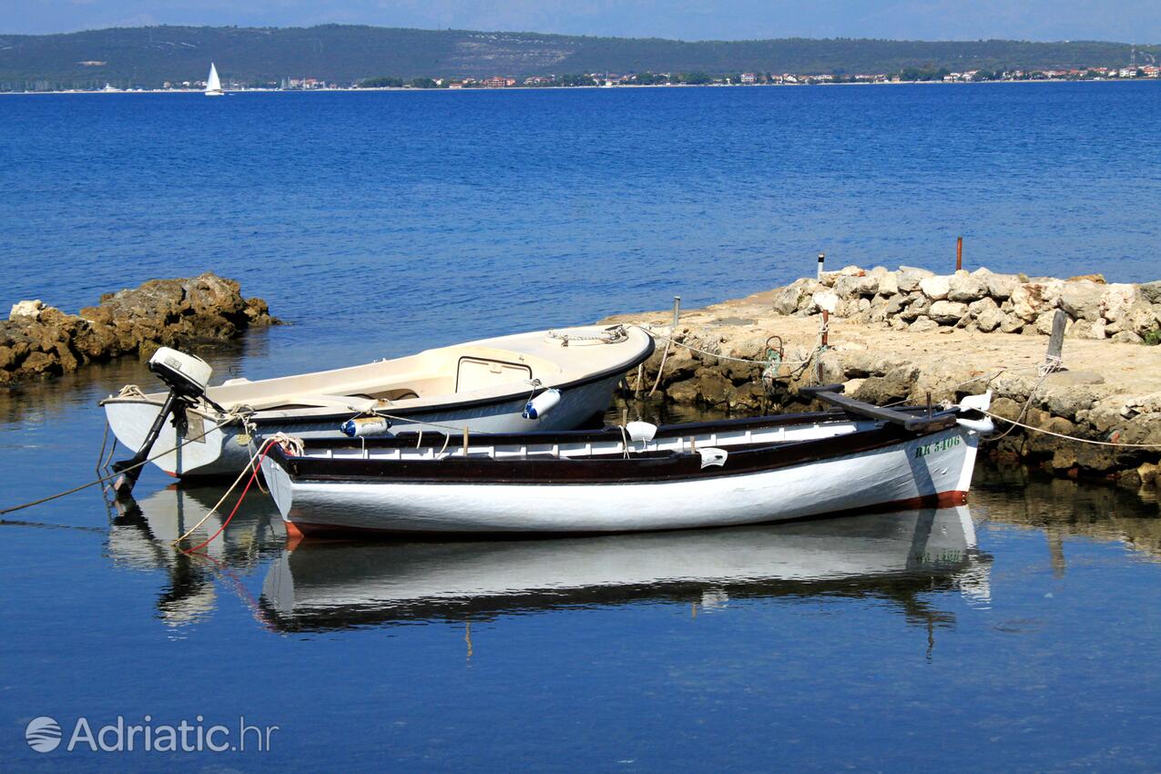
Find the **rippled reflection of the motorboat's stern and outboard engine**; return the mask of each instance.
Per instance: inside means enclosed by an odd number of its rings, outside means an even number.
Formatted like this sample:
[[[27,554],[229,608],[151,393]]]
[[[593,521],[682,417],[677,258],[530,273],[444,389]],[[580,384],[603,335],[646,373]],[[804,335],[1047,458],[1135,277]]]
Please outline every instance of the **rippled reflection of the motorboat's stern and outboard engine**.
[[[109,557],[125,569],[168,573],[170,584],[158,599],[158,615],[167,624],[196,623],[210,613],[217,605],[215,580],[229,584],[257,610],[257,600],[248,599],[238,574],[254,572],[286,545],[286,529],[271,500],[247,497],[228,529],[197,554],[182,554],[173,541],[205,519],[222,493],[219,486],[173,485],[140,502],[116,506]],[[228,498],[226,513],[210,515],[182,545],[196,547],[218,531],[236,499],[236,494]]]

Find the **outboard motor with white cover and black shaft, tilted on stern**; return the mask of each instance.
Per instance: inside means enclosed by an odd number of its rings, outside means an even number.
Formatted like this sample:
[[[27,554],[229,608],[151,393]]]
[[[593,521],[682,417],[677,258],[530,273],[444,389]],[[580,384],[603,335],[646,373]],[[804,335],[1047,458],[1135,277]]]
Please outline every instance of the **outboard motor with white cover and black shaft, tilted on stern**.
[[[137,478],[149,460],[149,454],[157,442],[165,420],[173,414],[173,426],[178,428],[178,436],[183,436],[189,427],[186,418],[186,408],[197,403],[200,398],[205,398],[205,388],[209,386],[210,374],[214,371],[210,364],[196,355],[187,355],[170,347],[161,347],[149,359],[147,368],[153,375],[165,382],[170,388],[170,395],[165,398],[165,404],[158,413],[157,419],[145,435],[145,442],[129,460],[113,463],[113,471],[121,473],[113,484],[113,491],[117,497],[129,497],[137,484]],[[207,403],[222,411],[221,406],[205,398]]]

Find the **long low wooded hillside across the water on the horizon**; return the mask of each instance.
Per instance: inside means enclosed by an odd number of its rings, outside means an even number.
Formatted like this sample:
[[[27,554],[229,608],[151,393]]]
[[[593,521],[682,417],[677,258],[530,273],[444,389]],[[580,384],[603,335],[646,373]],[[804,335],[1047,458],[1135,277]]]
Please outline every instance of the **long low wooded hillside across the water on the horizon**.
[[[1137,46],[1138,60],[1161,46]],[[845,73],[1125,65],[1125,43],[870,39],[706,41],[578,37],[382,27],[144,27],[0,35],[0,88],[160,86],[205,77],[210,60],[243,84],[312,77],[486,77],[580,72]]]

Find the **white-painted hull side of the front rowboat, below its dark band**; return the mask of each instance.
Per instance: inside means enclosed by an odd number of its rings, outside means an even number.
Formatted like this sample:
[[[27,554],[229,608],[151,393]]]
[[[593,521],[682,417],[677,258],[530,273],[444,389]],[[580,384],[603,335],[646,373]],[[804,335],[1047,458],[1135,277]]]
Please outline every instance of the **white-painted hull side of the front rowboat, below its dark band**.
[[[266,479],[300,531],[611,533],[727,527],[918,501],[957,504],[979,434],[964,426],[871,451],[757,472],[640,483],[387,483]],[[925,453],[925,454],[924,454]],[[572,464],[572,463],[564,463]],[[583,464],[583,463],[577,463]]]

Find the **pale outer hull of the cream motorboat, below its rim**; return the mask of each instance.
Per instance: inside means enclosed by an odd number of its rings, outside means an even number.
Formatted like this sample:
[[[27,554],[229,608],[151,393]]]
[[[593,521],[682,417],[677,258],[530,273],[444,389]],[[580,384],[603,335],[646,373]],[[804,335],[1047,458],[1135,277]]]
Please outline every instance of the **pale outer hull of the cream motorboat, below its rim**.
[[[578,427],[608,406],[610,396],[621,379],[614,374],[561,391],[561,402],[554,410],[539,419],[522,415],[527,397],[476,403],[466,406],[444,406],[421,412],[410,412],[391,419],[392,431],[440,431],[467,427],[473,433],[534,433],[543,431],[567,431]],[[117,441],[130,449],[139,449],[145,435],[161,411],[156,400],[110,400],[104,404],[106,417]],[[305,440],[346,439],[341,425],[351,419],[351,412],[309,419],[277,418],[254,419],[257,435],[287,433]],[[161,428],[154,449],[161,454],[154,464],[174,477],[231,476],[240,472],[254,451],[252,435],[240,426],[231,424],[215,427],[214,418],[196,411],[188,412],[192,440],[182,444],[171,422]]]

